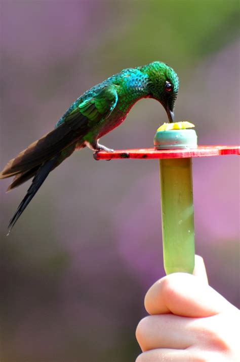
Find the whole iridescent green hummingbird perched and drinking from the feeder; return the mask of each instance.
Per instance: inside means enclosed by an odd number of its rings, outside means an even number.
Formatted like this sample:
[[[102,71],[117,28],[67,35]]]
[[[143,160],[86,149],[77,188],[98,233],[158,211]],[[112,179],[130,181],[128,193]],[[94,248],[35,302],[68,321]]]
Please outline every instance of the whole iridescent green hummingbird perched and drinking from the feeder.
[[[88,146],[95,157],[99,151],[113,152],[101,145],[99,139],[120,125],[141,98],[160,102],[169,122],[173,122],[178,86],[174,70],[161,61],[154,61],[124,69],[79,96],[52,131],[11,159],[0,173],[1,179],[14,176],[7,192],[33,178],[9,222],[8,233],[49,173],[74,150]]]

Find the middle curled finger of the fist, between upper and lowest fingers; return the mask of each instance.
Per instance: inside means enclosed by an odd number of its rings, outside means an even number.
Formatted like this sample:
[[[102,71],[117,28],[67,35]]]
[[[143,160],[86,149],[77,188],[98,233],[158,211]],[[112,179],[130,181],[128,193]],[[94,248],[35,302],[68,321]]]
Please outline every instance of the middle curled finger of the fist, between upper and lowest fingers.
[[[137,326],[136,338],[142,351],[155,348],[186,349],[197,343],[192,319],[173,314],[150,315]]]

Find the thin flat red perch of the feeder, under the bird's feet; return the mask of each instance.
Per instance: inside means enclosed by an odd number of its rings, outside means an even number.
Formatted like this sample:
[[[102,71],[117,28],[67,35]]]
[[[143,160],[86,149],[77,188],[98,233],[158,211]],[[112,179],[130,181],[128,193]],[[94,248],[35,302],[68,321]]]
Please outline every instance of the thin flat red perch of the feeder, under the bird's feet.
[[[154,148],[141,148],[132,150],[115,150],[113,152],[100,151],[95,159],[157,159],[157,158],[186,158],[222,155],[240,155],[240,146],[198,146],[191,149],[155,150]]]

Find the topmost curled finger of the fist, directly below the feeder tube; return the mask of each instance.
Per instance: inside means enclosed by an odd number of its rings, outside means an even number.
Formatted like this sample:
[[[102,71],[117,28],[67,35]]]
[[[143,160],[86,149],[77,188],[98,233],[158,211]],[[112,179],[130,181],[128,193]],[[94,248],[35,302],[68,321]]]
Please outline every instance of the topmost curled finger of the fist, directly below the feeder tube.
[[[202,279],[173,273],[151,286],[145,297],[149,314],[173,313],[185,317],[209,317],[232,305]]]

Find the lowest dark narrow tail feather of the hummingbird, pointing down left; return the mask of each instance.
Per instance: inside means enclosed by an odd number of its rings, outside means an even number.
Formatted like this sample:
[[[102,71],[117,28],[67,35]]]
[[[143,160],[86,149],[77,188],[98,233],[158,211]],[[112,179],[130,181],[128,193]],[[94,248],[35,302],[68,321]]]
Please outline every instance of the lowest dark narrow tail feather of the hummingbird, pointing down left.
[[[15,214],[13,215],[12,219],[9,222],[8,235],[10,234],[14,224],[16,223],[18,218],[21,216],[21,214],[23,213],[23,211],[25,210],[27,205],[30,203],[31,199],[33,198],[33,196],[35,195],[35,193],[37,192],[39,187],[41,187],[41,185],[47,178],[48,174],[53,169],[54,164],[58,160],[58,157],[59,157],[59,154],[57,154],[54,158],[51,158],[50,160],[43,163],[42,166],[40,166],[38,168],[36,175],[34,176],[34,178],[32,180],[31,186],[27,190],[27,193],[26,193],[24,199],[20,203],[19,207],[17,208],[17,211],[15,212]]]

